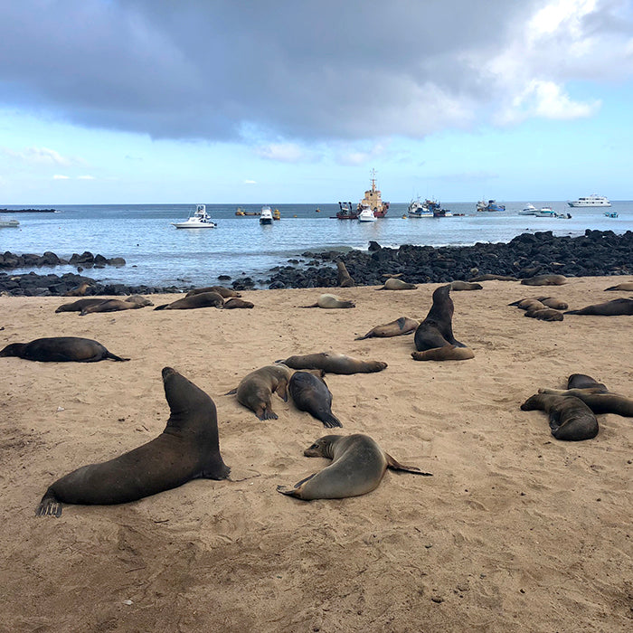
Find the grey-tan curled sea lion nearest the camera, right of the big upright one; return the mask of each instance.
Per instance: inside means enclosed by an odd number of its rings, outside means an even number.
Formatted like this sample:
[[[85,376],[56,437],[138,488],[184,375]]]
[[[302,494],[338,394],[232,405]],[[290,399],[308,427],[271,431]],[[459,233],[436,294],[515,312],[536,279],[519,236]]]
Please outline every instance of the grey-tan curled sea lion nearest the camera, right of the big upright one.
[[[303,451],[307,458],[330,458],[332,463],[294,487],[278,486],[282,495],[298,499],[342,499],[371,492],[387,468],[429,477],[415,466],[404,466],[385,453],[368,435],[326,435]]]

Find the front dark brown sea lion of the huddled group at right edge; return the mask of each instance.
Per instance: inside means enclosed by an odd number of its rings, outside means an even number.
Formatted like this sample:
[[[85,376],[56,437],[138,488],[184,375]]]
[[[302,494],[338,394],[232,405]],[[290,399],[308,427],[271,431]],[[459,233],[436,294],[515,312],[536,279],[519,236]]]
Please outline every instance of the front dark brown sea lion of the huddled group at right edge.
[[[556,439],[581,441],[598,435],[598,420],[590,408],[573,396],[536,393],[522,405],[521,411],[545,411]]]

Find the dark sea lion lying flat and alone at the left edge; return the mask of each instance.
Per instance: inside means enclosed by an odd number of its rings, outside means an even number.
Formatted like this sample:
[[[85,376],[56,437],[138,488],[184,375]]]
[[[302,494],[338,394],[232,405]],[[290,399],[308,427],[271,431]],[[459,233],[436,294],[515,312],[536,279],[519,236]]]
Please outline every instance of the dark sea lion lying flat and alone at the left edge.
[[[0,350],[0,356],[19,356],[27,361],[41,363],[97,363],[111,359],[128,361],[120,358],[97,341],[77,336],[52,336],[36,338],[30,343],[12,343]]]

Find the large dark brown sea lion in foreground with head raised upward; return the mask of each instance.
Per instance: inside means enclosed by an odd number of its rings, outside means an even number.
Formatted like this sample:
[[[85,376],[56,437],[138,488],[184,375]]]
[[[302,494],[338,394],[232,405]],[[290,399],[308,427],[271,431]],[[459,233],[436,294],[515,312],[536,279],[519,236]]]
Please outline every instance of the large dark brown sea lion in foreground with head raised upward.
[[[61,504],[110,505],[182,486],[191,479],[226,479],[213,400],[171,367],[163,369],[170,416],[152,441],[100,464],[73,470],[46,491],[39,516],[61,515]]]

